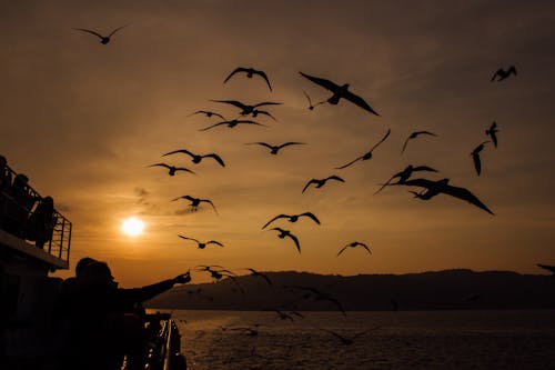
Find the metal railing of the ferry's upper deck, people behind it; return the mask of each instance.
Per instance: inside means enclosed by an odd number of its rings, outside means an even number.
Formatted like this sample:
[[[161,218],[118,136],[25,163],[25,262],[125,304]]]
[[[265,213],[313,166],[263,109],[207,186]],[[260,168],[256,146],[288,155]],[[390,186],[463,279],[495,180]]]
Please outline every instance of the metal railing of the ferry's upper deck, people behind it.
[[[56,208],[44,217],[41,203],[46,198],[27,181],[27,177],[18,176],[9,166],[0,167],[0,229],[68,261],[71,222]]]

